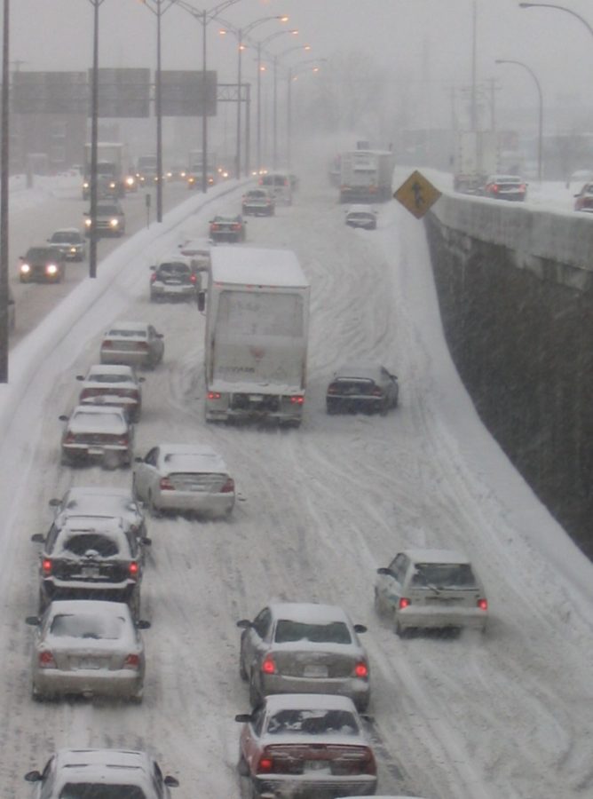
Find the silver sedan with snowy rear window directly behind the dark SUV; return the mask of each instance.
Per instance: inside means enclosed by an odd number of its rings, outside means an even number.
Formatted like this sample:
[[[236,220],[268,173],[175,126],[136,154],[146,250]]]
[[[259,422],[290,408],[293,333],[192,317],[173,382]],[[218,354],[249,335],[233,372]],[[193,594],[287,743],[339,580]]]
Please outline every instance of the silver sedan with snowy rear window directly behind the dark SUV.
[[[43,616],[29,616],[37,628],[33,647],[33,698],[69,694],[108,696],[139,702],[145,673],[140,629],[123,602],[65,599],[51,602]]]

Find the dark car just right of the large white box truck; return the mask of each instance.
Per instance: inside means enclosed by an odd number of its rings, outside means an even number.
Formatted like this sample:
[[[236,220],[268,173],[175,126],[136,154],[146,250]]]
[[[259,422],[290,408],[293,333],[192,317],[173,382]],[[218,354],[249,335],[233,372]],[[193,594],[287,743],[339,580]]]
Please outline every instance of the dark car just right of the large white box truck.
[[[328,385],[328,414],[380,413],[385,415],[399,401],[398,378],[376,365],[344,364]]]

